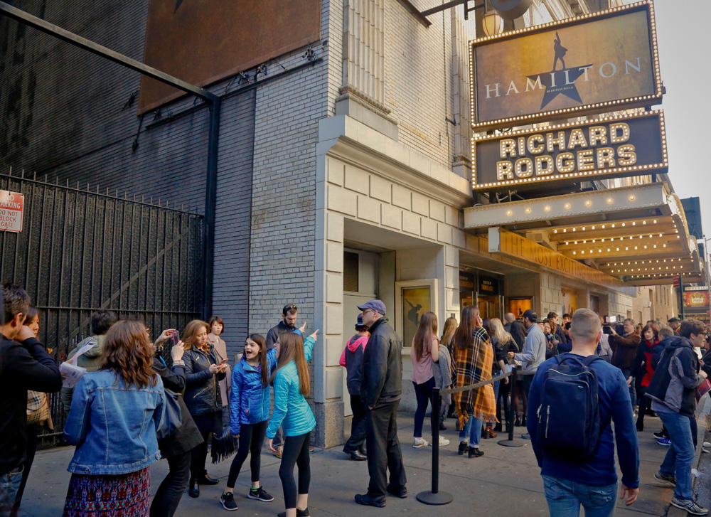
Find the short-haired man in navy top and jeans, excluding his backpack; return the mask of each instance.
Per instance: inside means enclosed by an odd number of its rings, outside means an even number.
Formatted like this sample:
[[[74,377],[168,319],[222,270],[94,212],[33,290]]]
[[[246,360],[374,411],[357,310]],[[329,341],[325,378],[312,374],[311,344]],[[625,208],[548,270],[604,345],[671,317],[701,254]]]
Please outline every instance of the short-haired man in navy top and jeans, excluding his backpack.
[[[589,309],[578,309],[570,327],[572,352],[577,356],[592,356],[600,340],[600,317]],[[563,354],[563,357],[568,354]],[[542,383],[546,371],[555,366],[555,358],[542,363],[536,371],[528,392],[528,414],[535,415],[540,405]],[[545,498],[551,517],[578,515],[580,506],[586,515],[611,516],[617,496],[615,442],[622,471],[621,499],[626,506],[637,500],[639,491],[639,452],[637,432],[629,401],[627,382],[619,368],[606,361],[594,361],[590,368],[598,379],[600,437],[592,455],[586,459],[569,459],[541,449],[536,419],[528,420],[533,451],[545,487]],[[615,422],[614,439],[611,421]]]

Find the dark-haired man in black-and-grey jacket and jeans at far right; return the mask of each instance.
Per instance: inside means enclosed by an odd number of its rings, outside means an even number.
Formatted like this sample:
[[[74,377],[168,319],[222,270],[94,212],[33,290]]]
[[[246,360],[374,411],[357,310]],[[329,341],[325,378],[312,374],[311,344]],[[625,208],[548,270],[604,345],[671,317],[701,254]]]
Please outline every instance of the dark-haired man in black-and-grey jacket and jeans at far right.
[[[700,321],[685,319],[680,336],[671,336],[661,344],[661,354],[652,356],[654,375],[646,396],[652,399],[652,410],[664,423],[671,444],[654,479],[674,487],[673,506],[693,515],[706,515],[708,510],[693,499],[691,466],[694,461],[696,388],[706,380],[700,371],[695,346],[703,346],[706,328]]]

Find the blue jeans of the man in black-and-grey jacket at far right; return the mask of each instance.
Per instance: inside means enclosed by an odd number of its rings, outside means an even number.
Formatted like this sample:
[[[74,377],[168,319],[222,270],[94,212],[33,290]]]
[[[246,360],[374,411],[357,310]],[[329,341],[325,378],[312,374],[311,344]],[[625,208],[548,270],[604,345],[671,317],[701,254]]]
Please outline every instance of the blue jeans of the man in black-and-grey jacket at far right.
[[[692,417],[673,411],[657,411],[669,432],[671,447],[659,467],[662,474],[676,476],[674,495],[677,499],[691,499],[691,465],[694,462],[694,441],[691,435]]]

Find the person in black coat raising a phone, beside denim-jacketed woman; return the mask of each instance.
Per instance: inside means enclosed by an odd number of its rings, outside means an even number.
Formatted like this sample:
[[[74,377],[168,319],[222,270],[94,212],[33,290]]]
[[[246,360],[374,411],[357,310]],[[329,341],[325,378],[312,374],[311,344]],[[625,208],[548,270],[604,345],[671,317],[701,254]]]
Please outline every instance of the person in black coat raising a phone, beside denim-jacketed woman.
[[[160,350],[163,343],[172,336],[173,329],[163,331],[156,339],[156,349]],[[171,348],[172,371],[161,356],[156,354],[153,358],[153,370],[163,380],[164,388],[175,393],[182,393],[185,389],[185,363],[182,361],[184,351],[185,348],[181,342]],[[178,405],[181,409],[181,426],[173,435],[161,440],[158,444],[161,456],[168,460],[169,472],[153,498],[151,517],[173,517],[176,513],[183,492],[190,480],[191,450],[203,443],[203,436],[183,401],[183,395],[178,397]]]

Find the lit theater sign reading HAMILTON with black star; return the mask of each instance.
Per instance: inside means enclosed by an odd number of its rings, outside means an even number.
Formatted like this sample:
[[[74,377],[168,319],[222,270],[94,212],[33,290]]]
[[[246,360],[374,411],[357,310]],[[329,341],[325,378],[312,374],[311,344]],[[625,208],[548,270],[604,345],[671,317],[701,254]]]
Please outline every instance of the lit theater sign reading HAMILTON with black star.
[[[470,50],[476,131],[661,102],[651,1],[481,38]]]

